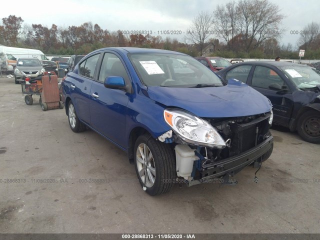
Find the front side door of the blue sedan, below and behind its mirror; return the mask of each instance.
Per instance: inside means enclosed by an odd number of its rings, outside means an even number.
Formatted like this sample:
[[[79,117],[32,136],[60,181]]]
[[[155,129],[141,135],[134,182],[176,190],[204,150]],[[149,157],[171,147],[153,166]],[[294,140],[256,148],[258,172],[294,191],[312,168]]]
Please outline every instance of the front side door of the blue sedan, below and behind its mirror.
[[[108,76],[121,76],[126,83],[131,82],[125,64],[113,52],[103,55],[97,81],[94,81],[90,91],[91,125],[100,134],[121,147],[126,141],[125,114],[130,93],[124,90],[104,87],[104,80]]]

